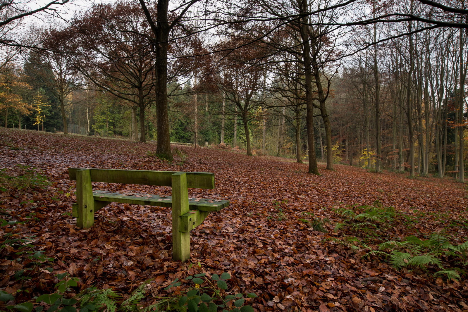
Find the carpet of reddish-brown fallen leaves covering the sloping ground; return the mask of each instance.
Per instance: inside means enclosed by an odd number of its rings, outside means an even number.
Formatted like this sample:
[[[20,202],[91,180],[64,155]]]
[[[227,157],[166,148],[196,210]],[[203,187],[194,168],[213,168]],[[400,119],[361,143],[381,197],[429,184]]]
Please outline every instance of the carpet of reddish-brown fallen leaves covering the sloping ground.
[[[189,196],[227,199],[231,205],[211,213],[191,231],[190,261],[201,262],[209,274],[231,273],[231,290],[259,296],[250,302],[257,311],[468,311],[466,277],[457,282],[434,279],[429,272],[396,270],[375,256],[363,258],[366,251],[323,241],[340,235],[332,231],[341,221],[334,208],[376,200],[408,215],[415,209],[426,213],[418,215],[419,223],[412,226],[396,222],[391,228],[395,239],[444,230],[438,214],[466,218],[464,185],[450,178],[408,179],[345,165],[336,165],[335,171],[319,165],[321,175],[315,176],[306,174],[307,165],[280,158],[174,147],[184,151],[185,161],[149,157],[156,150],[154,143],[1,128],[0,167],[10,174],[18,164],[36,167],[52,183],[47,189],[3,198],[0,208],[19,221],[35,213],[36,219],[15,234],[37,236],[35,245],[55,258],[54,274],[79,277],[80,289],[96,285],[124,293],[153,279],[146,299],[150,302],[152,296],[167,296],[163,288],[187,276],[190,263],[172,261],[170,209],[112,203],[96,214],[94,227],[81,230],[66,213],[76,199],[67,168],[213,172],[216,188],[190,189]],[[111,191],[170,194],[166,187],[94,185]],[[299,221],[305,218],[303,212],[329,218],[330,232],[314,231]],[[467,239],[466,227],[445,231],[458,243]],[[2,227],[0,236],[5,232],[11,228]],[[0,290],[30,291],[17,293],[17,302],[51,293],[57,279],[47,271],[31,281],[15,281],[14,273],[25,263],[15,261],[14,253],[8,248],[0,251]]]

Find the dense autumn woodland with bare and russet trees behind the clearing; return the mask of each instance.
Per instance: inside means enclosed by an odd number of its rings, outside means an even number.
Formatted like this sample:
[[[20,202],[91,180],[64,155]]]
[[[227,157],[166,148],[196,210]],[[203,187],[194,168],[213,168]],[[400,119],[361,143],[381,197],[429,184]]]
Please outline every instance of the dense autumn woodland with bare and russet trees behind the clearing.
[[[463,2],[52,7],[2,8],[5,127],[464,180]]]

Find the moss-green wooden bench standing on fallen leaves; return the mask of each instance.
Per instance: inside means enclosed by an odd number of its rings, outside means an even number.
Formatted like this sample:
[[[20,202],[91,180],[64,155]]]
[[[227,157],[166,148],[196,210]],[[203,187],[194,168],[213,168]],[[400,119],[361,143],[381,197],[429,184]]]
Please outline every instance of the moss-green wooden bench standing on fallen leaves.
[[[94,214],[107,204],[131,203],[172,207],[172,255],[174,260],[190,258],[190,230],[200,225],[210,211],[229,205],[227,200],[190,198],[187,188],[214,189],[214,174],[205,172],[176,172],[120,169],[69,168],[70,180],[76,180],[76,201],[73,217],[76,225],[94,225]],[[143,184],[172,187],[172,196],[110,193],[94,191],[91,182]]]

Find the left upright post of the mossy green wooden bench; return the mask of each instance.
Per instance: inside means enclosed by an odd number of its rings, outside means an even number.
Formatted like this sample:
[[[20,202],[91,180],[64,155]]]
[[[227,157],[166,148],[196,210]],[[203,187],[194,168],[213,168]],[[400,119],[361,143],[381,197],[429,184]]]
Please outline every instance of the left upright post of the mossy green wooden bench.
[[[76,171],[76,201],[78,217],[76,226],[88,228],[94,225],[94,197],[91,184],[91,171],[80,169]]]

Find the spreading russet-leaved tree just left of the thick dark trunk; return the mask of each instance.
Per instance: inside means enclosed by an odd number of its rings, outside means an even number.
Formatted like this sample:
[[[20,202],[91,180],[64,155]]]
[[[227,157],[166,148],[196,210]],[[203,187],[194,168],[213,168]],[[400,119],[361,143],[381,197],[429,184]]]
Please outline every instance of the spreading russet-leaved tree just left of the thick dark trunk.
[[[77,45],[75,67],[95,86],[139,108],[140,142],[146,142],[145,110],[155,101],[154,53],[138,6],[96,5],[77,16],[62,36]],[[135,118],[136,119],[136,118]]]

